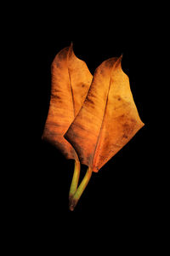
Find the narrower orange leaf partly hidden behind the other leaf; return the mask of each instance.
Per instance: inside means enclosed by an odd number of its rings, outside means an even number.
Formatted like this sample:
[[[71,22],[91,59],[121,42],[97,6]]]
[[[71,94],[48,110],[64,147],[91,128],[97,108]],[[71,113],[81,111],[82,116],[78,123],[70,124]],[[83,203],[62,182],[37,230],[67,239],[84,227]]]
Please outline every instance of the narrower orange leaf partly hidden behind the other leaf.
[[[42,138],[59,148],[65,158],[76,160],[77,154],[64,134],[82,107],[93,76],[74,54],[72,44],[55,56],[51,73],[51,99]]]

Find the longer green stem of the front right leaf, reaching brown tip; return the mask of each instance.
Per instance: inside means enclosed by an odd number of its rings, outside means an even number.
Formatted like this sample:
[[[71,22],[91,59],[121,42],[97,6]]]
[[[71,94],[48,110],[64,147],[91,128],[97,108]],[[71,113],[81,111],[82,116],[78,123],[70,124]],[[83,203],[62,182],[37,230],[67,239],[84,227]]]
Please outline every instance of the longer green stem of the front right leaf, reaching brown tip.
[[[70,200],[70,210],[71,211],[73,211],[74,208],[77,206],[77,202],[79,201],[84,189],[86,189],[91,176],[92,176],[92,169],[90,167],[88,167],[86,175],[82,179],[82,183],[80,183],[80,185],[77,189],[77,192],[75,193],[75,195],[73,195],[73,197]]]

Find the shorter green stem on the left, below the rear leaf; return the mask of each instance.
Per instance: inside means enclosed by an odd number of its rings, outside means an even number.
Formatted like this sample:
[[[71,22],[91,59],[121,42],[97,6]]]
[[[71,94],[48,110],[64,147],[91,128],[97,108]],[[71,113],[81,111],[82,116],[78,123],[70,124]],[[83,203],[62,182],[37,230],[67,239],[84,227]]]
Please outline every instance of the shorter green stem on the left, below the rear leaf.
[[[75,168],[74,168],[74,173],[73,173],[72,182],[71,182],[71,189],[69,192],[70,200],[77,191],[79,176],[80,176],[80,162],[79,160],[75,160]]]

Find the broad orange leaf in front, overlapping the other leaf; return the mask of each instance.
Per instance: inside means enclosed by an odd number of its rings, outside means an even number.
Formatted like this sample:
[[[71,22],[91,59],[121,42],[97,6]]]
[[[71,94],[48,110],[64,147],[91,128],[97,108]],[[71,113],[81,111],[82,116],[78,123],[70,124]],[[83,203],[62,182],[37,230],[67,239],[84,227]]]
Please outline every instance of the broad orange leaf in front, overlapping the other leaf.
[[[65,138],[82,164],[98,172],[144,125],[133,102],[122,56],[95,71],[88,96]]]

